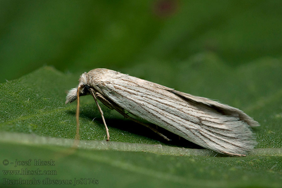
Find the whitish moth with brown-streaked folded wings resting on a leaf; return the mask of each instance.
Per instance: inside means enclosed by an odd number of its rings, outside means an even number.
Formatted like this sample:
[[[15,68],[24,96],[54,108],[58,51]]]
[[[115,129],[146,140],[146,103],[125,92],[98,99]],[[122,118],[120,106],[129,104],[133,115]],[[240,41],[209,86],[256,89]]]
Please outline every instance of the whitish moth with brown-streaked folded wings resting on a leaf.
[[[79,96],[89,94],[94,97],[102,115],[107,140],[107,125],[96,97],[110,109],[151,128],[167,140],[151,125],[128,116],[124,110],[222,154],[245,156],[256,145],[250,127],[259,126],[259,123],[238,108],[108,69],[93,69],[83,73],[78,86],[66,96],[66,104],[77,99],[77,134]]]

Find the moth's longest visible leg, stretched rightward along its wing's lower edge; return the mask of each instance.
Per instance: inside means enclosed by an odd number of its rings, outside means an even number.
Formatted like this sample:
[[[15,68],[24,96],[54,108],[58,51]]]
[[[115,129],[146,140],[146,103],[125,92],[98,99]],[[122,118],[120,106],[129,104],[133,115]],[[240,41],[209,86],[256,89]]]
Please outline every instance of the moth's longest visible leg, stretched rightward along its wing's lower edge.
[[[163,135],[162,133],[160,133],[157,129],[153,128],[151,125],[147,124],[147,123],[144,123],[144,122],[141,122],[141,121],[138,121],[132,117],[130,117],[127,113],[124,112],[124,109],[121,108],[121,107],[118,107],[116,104],[112,104],[111,102],[109,102],[107,99],[105,99],[100,93],[96,93],[95,94],[96,97],[99,99],[99,101],[101,101],[105,106],[107,106],[108,108],[110,109],[114,109],[116,110],[118,113],[120,113],[121,115],[124,116],[124,118],[128,118],[136,123],[139,123],[141,125],[144,125],[145,127],[148,127],[150,128],[152,131],[154,131],[155,133],[159,134],[161,137],[165,138],[165,140],[167,141],[170,141],[169,138],[167,138],[165,135]]]

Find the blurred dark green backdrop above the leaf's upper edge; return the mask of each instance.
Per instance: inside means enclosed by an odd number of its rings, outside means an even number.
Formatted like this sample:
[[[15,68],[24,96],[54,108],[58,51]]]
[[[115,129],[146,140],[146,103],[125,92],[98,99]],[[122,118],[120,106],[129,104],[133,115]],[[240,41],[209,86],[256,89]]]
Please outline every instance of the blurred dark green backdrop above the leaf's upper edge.
[[[231,66],[280,58],[281,7],[280,0],[1,1],[0,82],[42,65],[81,73],[177,66],[206,52]]]

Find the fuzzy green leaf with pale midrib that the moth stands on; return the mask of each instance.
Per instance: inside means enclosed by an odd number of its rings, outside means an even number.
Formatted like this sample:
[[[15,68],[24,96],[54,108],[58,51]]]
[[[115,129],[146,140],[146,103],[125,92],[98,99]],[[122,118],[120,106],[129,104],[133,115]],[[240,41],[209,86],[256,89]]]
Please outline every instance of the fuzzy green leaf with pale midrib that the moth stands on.
[[[206,63],[203,65],[191,59],[189,62],[183,62],[181,69],[170,67],[169,72],[167,67],[170,66],[169,64],[165,66],[156,64],[156,67],[162,69],[160,72],[166,74],[162,80],[159,80],[161,74],[150,77],[149,75],[153,74],[150,74],[149,70],[142,70],[141,67],[134,67],[132,70],[123,72],[130,71],[131,75],[167,86],[182,81],[182,85],[176,84],[178,90],[198,91],[201,96],[210,98],[218,95],[217,98],[221,98],[224,103],[245,110],[261,123],[261,127],[256,128],[254,132],[257,135],[258,147],[262,149],[255,149],[244,158],[223,157],[206,149],[177,149],[175,145],[182,146],[180,143],[165,143],[158,135],[148,134],[150,131],[146,128],[120,118],[101,104],[111,136],[110,145],[106,144],[105,147],[103,146],[105,141],[104,143],[91,141],[104,140],[105,128],[90,96],[81,97],[82,141],[79,149],[72,149],[72,139],[75,137],[76,130],[76,105],[65,105],[64,101],[67,90],[76,86],[77,77],[45,66],[20,79],[0,85],[1,91],[5,91],[0,94],[0,128],[5,131],[1,133],[0,143],[3,151],[1,158],[13,162],[16,159],[58,161],[59,164],[54,168],[40,166],[42,171],[57,170],[56,176],[24,176],[26,179],[36,177],[40,181],[49,177],[50,179],[68,179],[74,183],[75,178],[93,177],[99,180],[100,185],[107,186],[130,177],[132,182],[138,183],[139,186],[150,184],[150,186],[201,187],[209,182],[211,187],[224,187],[230,186],[232,182],[231,187],[243,185],[278,187],[279,182],[282,182],[282,151],[279,149],[282,138],[279,127],[282,122],[279,101],[282,92],[281,85],[278,88],[278,84],[274,86],[268,83],[277,80],[282,65],[276,63],[275,60],[264,59],[259,64],[248,64],[233,69],[221,64],[220,60],[211,54],[204,55],[202,61]],[[229,71],[226,71],[228,69]],[[186,75],[184,70],[190,74]],[[218,77],[211,77],[213,73],[216,73]],[[196,75],[202,76],[198,78]],[[266,77],[268,80],[264,81]],[[206,83],[205,90],[202,91],[197,90],[200,86],[193,85],[201,81]],[[228,83],[223,84],[225,82]],[[183,85],[183,83],[191,84]],[[211,83],[214,85],[209,85]],[[242,93],[240,97],[230,97],[236,96],[235,88]],[[264,91],[265,88],[268,90]],[[205,95],[205,93],[208,94]],[[95,119],[92,121],[93,118]],[[15,134],[16,132],[22,134]],[[52,140],[49,137],[62,140]],[[66,138],[70,140],[64,140]],[[120,144],[121,142],[128,144]],[[141,145],[129,143],[141,143]],[[156,146],[145,144],[156,144]],[[174,147],[165,146],[167,144]],[[193,147],[189,143],[185,146]],[[154,154],[144,153],[144,151]],[[91,165],[92,167],[89,168]],[[3,170],[21,170],[22,168],[27,167],[3,166]],[[28,170],[37,168],[39,167],[34,165],[28,166]],[[69,173],[65,174],[65,169]],[[23,176],[5,175],[5,178],[18,179]],[[251,181],[253,179],[257,180]],[[151,183],[148,183],[148,180]],[[124,181],[119,186],[128,186],[128,183]]]

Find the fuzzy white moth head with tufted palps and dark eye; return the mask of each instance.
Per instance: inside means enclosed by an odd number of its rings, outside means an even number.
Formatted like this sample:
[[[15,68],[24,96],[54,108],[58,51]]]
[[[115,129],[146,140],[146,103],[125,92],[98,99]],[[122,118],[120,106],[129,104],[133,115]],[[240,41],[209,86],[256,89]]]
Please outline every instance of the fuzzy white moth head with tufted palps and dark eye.
[[[77,92],[79,92],[79,96],[89,95],[89,88],[88,74],[84,72],[79,78],[78,86],[69,90],[65,97],[65,104],[74,102],[77,99]]]

